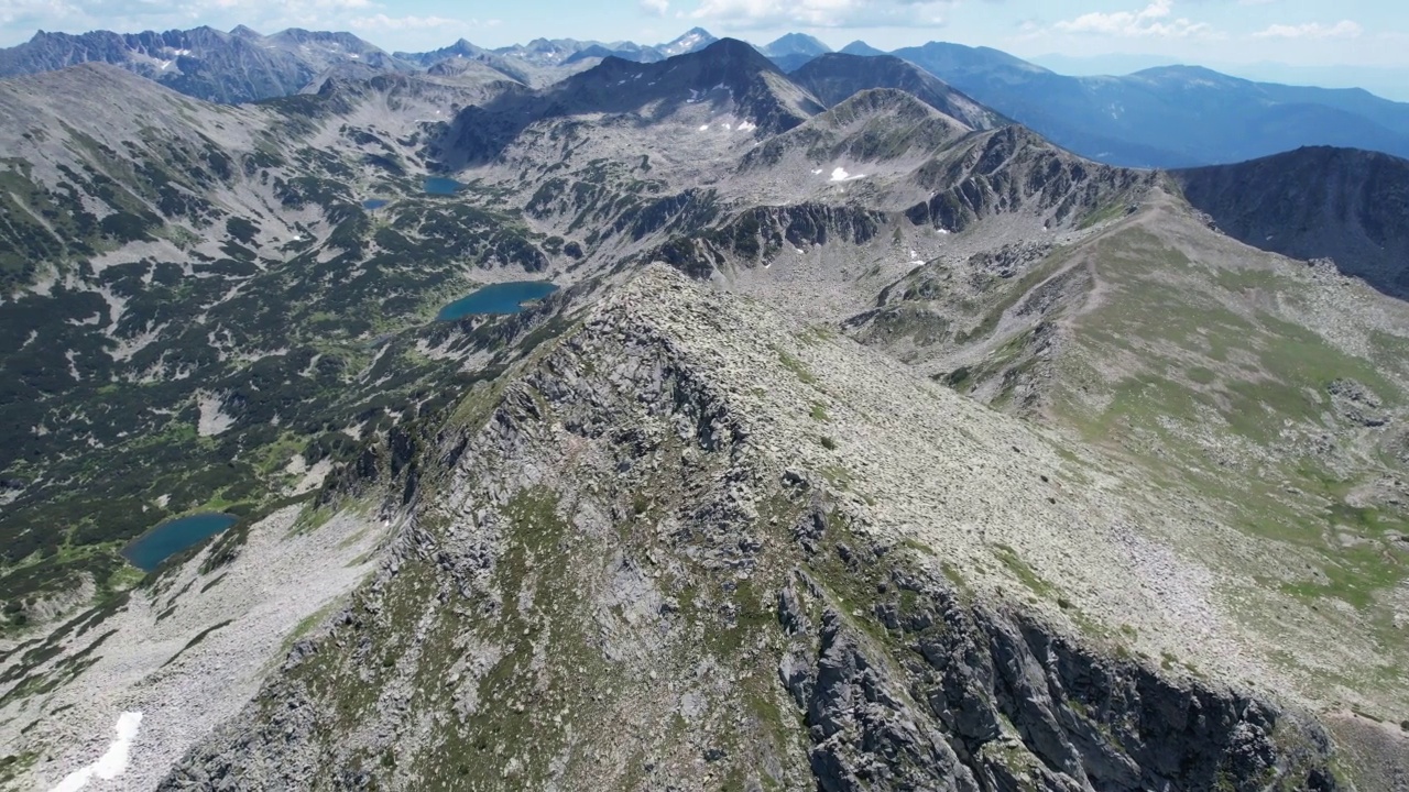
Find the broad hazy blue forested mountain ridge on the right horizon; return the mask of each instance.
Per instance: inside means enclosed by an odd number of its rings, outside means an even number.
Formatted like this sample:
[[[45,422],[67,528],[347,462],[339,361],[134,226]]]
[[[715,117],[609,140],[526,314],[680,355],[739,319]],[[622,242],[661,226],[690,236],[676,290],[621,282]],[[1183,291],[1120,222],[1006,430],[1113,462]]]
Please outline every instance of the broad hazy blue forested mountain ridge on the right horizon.
[[[1116,165],[1212,165],[1303,145],[1409,155],[1409,104],[1363,90],[1254,83],[1195,66],[1069,78],[943,42],[895,55],[1058,145]]]

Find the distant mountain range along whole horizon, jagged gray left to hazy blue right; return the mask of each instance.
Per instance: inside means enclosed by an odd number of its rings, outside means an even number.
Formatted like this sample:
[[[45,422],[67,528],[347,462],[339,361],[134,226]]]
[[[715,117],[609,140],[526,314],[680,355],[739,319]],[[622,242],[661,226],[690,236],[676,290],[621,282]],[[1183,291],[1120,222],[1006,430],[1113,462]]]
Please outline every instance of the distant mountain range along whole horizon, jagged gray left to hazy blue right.
[[[25,44],[0,49],[0,76],[101,61],[197,99],[240,103],[316,92],[333,76],[365,79],[424,70],[458,75],[465,69],[455,62],[473,61],[537,89],[609,58],[655,63],[716,41],[709,31],[693,28],[658,45],[538,38],[488,49],[461,39],[430,52],[387,54],[352,34],[304,30],[268,37],[245,27],[230,32],[206,27],[141,34],[41,31]],[[797,32],[754,48],[786,73],[833,55],[821,41]],[[945,42],[886,54],[854,41],[841,54],[914,63],[947,83],[945,89],[952,86],[996,116],[1110,165],[1195,168],[1306,145],[1409,156],[1409,104],[1358,89],[1258,83],[1198,66],[1074,78],[998,49]]]

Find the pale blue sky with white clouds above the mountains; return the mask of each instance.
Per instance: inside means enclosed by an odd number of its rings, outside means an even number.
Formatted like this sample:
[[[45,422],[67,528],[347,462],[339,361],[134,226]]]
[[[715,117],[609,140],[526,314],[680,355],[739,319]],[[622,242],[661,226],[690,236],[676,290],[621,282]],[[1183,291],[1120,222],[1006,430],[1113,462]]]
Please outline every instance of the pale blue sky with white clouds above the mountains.
[[[943,39],[1029,58],[1409,69],[1409,4],[1399,0],[0,0],[0,45],[38,28],[241,23],[263,32],[351,30],[386,49],[430,49],[461,37],[486,47],[535,37],[654,44],[702,25],[750,41],[799,30],[833,47]]]

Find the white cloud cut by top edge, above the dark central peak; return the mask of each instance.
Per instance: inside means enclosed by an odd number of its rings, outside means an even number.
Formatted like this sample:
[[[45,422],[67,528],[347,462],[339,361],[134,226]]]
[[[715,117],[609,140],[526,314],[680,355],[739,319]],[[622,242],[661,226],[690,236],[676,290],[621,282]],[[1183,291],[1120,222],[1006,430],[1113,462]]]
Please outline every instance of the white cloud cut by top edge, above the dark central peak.
[[[702,0],[689,16],[740,30],[933,28],[954,0]]]

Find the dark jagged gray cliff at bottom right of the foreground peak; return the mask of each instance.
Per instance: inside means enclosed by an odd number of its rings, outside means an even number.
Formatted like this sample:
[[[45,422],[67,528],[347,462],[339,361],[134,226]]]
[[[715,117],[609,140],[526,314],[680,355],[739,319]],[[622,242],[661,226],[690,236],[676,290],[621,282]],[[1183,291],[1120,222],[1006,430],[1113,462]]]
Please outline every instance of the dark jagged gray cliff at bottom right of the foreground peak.
[[[823,789],[1336,788],[1319,727],[1100,658],[867,555],[852,551],[885,592],[875,612],[895,654],[824,606],[813,629],[799,616],[807,586],[779,600],[793,643],[813,648],[810,667],[786,655],[779,678],[806,712]],[[1289,748],[1291,733],[1303,741]]]

